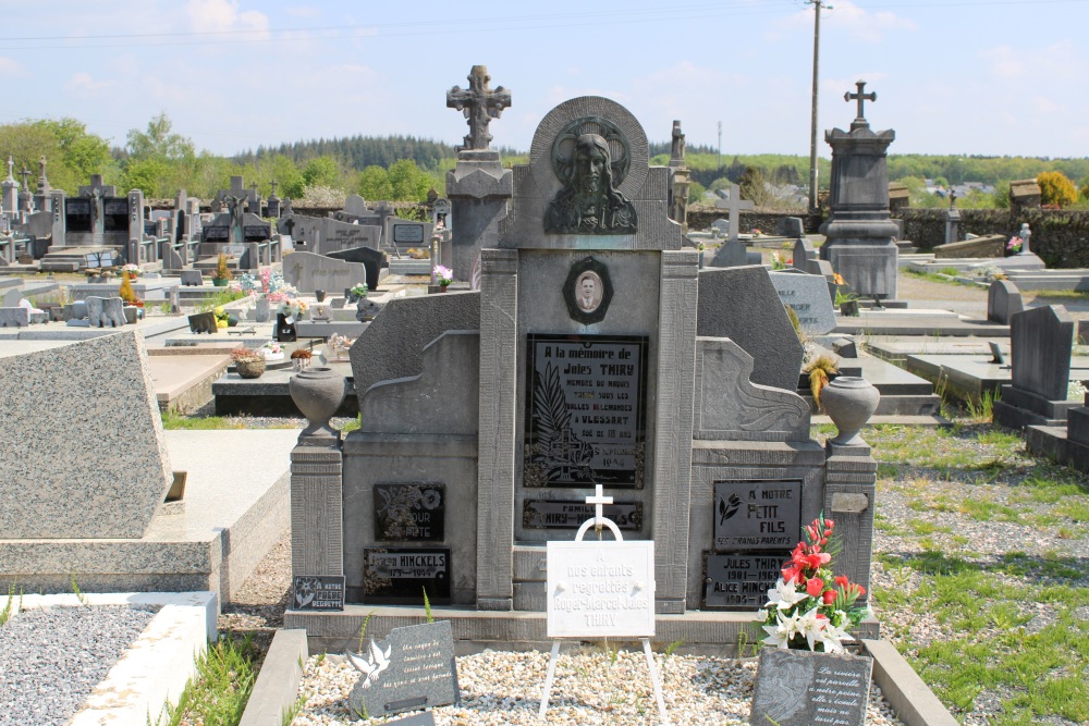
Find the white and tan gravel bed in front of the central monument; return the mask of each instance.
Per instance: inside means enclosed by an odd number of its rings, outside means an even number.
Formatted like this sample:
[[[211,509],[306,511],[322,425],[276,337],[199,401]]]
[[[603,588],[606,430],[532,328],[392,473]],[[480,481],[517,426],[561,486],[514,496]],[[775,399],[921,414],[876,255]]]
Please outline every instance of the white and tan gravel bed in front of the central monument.
[[[485,651],[457,659],[462,702],[435,709],[440,726],[517,726],[541,724],[658,724],[658,705],[641,651],[620,650],[615,662],[600,648],[571,647],[560,653],[549,709],[540,707],[549,654],[546,652]],[[756,684],[755,659],[730,660],[701,655],[654,654],[662,676],[665,711],[675,726],[748,724]],[[294,726],[382,723],[348,713],[347,697],[359,673],[343,655],[316,655],[306,662],[299,694],[306,697]],[[418,712],[417,712],[418,713]],[[411,715],[399,714],[396,717]],[[870,688],[867,724],[895,726],[902,722]]]

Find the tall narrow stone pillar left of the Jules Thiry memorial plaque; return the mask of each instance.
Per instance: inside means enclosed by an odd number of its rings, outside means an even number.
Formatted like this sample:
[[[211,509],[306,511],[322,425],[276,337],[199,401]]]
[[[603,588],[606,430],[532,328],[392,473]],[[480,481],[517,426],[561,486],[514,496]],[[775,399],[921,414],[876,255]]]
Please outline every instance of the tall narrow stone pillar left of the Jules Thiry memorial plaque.
[[[456,209],[456,208],[455,208]],[[461,226],[461,223],[457,224]],[[514,607],[518,251],[481,250],[477,608]],[[690,430],[690,429],[689,429]]]

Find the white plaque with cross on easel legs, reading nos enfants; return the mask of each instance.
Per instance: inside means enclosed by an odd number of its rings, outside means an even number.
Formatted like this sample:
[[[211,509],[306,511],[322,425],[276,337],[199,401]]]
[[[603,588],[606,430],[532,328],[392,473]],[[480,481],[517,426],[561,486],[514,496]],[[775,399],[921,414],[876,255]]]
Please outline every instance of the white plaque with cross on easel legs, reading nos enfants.
[[[560,638],[638,638],[650,668],[658,710],[665,719],[665,701],[661,681],[650,651],[654,635],[654,542],[625,542],[615,522],[602,516],[602,505],[612,504],[601,484],[587,504],[595,516],[583,522],[574,542],[549,542],[548,552],[548,636],[552,639],[541,698],[540,716],[544,717],[549,693],[555,677],[555,661],[560,655]],[[608,527],[614,541],[588,540],[583,536],[590,527],[599,532]]]

